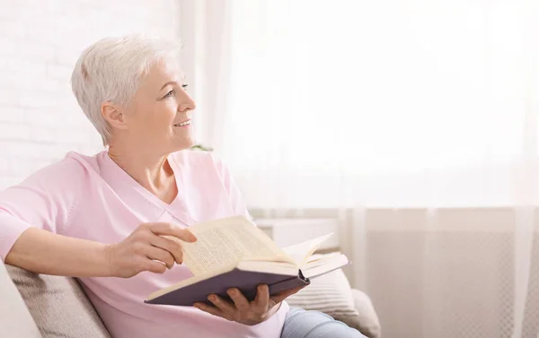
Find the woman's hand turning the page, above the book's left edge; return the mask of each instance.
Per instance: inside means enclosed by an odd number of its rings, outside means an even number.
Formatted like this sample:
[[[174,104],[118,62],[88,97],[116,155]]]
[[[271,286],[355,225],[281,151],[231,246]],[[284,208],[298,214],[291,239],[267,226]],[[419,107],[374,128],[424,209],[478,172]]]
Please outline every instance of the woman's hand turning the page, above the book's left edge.
[[[105,247],[110,275],[128,278],[143,271],[164,273],[174,263],[181,264],[181,241],[176,238],[189,243],[197,240],[189,230],[172,223],[141,224],[128,238]]]

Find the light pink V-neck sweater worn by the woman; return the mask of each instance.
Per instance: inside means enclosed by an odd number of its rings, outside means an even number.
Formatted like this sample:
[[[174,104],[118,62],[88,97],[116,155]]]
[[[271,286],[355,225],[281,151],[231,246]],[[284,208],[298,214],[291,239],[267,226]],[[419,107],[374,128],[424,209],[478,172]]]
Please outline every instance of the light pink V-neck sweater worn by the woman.
[[[74,238],[115,243],[142,222],[172,221],[189,227],[199,221],[248,215],[242,195],[225,166],[208,152],[175,152],[169,157],[178,196],[164,204],[110,160],[69,152],[18,186],[0,192],[0,256],[29,227]],[[122,278],[81,278],[84,290],[115,338],[267,337],[278,338],[287,314],[259,325],[241,325],[197,308],[149,305],[146,296],[190,277],[184,265],[163,274]]]

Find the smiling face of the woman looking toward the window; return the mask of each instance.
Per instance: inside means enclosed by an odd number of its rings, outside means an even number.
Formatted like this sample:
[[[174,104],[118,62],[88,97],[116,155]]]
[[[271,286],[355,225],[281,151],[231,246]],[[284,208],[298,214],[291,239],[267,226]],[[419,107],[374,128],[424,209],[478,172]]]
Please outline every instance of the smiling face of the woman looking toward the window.
[[[122,134],[151,152],[190,148],[194,144],[190,118],[195,102],[183,87],[183,75],[176,63],[153,65],[129,104]]]

